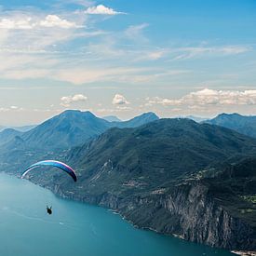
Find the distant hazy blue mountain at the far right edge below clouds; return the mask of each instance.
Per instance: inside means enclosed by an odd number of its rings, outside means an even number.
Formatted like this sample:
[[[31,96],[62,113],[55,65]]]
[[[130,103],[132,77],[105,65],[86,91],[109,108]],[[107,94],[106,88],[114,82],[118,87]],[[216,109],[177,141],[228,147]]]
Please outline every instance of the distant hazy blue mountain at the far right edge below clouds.
[[[256,116],[239,114],[221,114],[207,120],[206,123],[234,129],[242,134],[256,138]]]

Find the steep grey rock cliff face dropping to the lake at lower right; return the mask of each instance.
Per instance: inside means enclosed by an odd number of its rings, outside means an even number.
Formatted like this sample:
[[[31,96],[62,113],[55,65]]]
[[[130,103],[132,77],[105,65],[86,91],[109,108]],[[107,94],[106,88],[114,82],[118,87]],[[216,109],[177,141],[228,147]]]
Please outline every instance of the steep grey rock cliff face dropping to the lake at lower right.
[[[232,217],[200,182],[168,195],[163,207],[171,216],[180,217],[179,229],[173,232],[180,231],[187,240],[225,249],[256,248],[255,230]]]

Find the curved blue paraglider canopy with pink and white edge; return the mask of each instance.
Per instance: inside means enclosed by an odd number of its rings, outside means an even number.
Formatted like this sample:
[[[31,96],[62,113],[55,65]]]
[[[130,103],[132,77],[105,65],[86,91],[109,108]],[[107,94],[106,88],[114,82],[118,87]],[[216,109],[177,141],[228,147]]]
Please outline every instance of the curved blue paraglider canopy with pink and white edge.
[[[76,180],[77,180],[76,174],[75,174],[73,168],[69,167],[68,165],[66,165],[60,161],[56,161],[56,160],[44,160],[44,161],[40,161],[40,162],[33,164],[29,168],[25,169],[24,173],[21,176],[21,179],[23,179],[26,176],[26,174],[33,168],[37,168],[37,167],[41,167],[41,166],[50,166],[50,167],[61,168],[62,170],[67,172],[73,178],[74,182],[76,182]]]

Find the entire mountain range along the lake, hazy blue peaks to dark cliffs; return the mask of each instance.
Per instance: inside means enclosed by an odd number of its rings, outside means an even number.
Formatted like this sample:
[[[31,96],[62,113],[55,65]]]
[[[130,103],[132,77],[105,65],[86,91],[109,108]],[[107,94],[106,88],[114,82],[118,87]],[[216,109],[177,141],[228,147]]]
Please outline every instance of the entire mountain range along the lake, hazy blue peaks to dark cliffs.
[[[55,194],[115,210],[141,228],[225,249],[256,249],[256,139],[148,113],[108,122],[66,111],[27,132],[0,133],[0,170],[42,159],[77,174],[30,172]]]

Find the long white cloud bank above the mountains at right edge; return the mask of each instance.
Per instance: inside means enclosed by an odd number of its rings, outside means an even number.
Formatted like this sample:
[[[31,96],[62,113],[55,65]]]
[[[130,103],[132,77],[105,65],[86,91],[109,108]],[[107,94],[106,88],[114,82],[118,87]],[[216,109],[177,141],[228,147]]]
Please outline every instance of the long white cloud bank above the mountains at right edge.
[[[256,90],[214,90],[204,88],[191,92],[180,99],[173,100],[168,98],[147,98],[146,106],[161,104],[164,106],[189,106],[196,108],[198,106],[214,105],[256,105]]]

